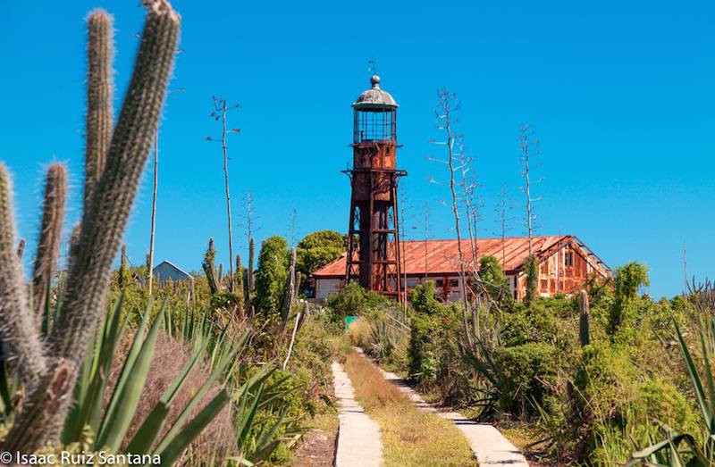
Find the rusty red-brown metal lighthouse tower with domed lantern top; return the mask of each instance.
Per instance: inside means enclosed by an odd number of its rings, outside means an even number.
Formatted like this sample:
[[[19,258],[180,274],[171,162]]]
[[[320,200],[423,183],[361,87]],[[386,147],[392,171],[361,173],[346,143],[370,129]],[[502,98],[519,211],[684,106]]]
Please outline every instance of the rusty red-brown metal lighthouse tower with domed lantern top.
[[[353,166],[343,171],[352,188],[345,279],[401,299],[397,182],[407,172],[396,168],[398,104],[379,76],[370,84],[352,104]]]

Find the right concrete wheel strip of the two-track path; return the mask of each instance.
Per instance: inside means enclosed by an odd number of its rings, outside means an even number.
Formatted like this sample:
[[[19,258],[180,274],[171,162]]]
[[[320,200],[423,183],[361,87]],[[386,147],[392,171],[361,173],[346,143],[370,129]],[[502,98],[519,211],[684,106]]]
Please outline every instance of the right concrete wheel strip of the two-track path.
[[[362,353],[362,352],[360,352]],[[404,379],[395,373],[383,371],[385,379],[396,384],[409,399],[416,404],[420,410],[437,413],[444,419],[452,421],[469,443],[469,447],[476,455],[479,467],[528,467],[526,457],[519,452],[516,446],[512,445],[509,439],[499,432],[492,425],[477,423],[468,420],[461,413],[438,412],[431,404],[427,404],[416,390],[410,388]]]

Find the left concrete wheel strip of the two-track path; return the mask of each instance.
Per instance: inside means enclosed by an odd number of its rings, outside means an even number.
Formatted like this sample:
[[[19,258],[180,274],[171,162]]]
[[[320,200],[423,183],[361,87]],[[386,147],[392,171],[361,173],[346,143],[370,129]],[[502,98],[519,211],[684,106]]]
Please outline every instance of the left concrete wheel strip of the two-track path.
[[[355,390],[340,363],[332,363],[332,379],[341,422],[335,449],[335,467],[381,465],[383,441],[380,438],[380,427],[370,420],[365,409],[355,400]]]

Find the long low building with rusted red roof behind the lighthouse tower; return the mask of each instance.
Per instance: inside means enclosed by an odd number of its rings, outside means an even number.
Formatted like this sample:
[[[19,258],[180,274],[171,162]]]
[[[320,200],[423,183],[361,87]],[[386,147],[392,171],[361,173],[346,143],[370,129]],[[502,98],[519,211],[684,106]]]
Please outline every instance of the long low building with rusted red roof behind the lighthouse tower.
[[[401,289],[406,288],[409,292],[417,284],[433,280],[439,300],[456,302],[461,299],[457,240],[406,241],[400,245],[403,255],[399,284]],[[505,238],[503,241],[501,238],[479,238],[475,246],[477,259],[490,254],[501,263],[512,296],[516,300],[523,300],[526,295],[524,262],[529,254],[528,238]],[[469,240],[462,240],[467,264],[472,263],[471,250]],[[601,258],[572,235],[534,237],[533,251],[539,263],[537,293],[540,296],[569,294],[581,288],[592,275],[606,279],[612,274]],[[342,254],[332,263],[313,272],[315,298],[324,299],[345,284],[346,257],[347,254]],[[397,284],[391,287],[397,288]]]

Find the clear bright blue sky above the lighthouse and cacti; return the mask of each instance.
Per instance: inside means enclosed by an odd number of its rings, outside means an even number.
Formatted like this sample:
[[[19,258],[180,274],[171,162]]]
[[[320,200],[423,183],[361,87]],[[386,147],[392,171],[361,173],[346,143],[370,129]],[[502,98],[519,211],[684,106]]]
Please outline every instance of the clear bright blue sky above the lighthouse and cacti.
[[[71,221],[80,213],[85,29],[95,6],[114,13],[116,106],[130,79],[143,12],[138,1],[3,0],[0,159],[13,171],[21,236],[37,236],[43,167],[71,169]],[[611,266],[651,269],[653,296],[715,264],[715,6],[652,2],[217,2],[177,0],[181,54],[161,129],[156,259],[200,268],[213,236],[228,261],[219,130],[211,96],[238,102],[230,124],[233,215],[250,190],[259,238],[344,231],[349,182],[349,104],[376,57],[383,88],[400,104],[399,165],[412,206],[408,226],[431,211],[433,238],[450,238],[447,193],[427,179],[434,154],[436,90],[458,93],[460,130],[484,184],[483,236],[496,230],[502,184],[524,232],[517,130],[542,141],[536,205],[541,234],[576,234]],[[126,235],[132,263],[147,252],[150,171]],[[410,230],[420,238],[422,227]],[[235,226],[244,254],[247,242]]]

